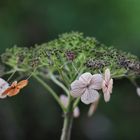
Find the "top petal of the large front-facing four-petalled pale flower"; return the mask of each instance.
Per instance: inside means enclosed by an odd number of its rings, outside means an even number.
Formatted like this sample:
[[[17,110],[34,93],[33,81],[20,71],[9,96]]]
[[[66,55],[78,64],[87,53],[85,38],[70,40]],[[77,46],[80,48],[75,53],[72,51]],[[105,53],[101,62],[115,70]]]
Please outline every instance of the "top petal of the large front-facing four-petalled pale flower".
[[[79,81],[82,82],[84,85],[90,84],[91,79],[92,74],[89,72],[86,72],[79,77]]]

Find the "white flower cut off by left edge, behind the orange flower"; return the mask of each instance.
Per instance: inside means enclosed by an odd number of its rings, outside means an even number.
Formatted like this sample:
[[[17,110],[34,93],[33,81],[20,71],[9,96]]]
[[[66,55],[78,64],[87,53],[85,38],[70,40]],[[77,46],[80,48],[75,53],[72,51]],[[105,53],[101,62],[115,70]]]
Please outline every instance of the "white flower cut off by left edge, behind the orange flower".
[[[2,78],[0,78],[0,98],[3,99],[5,98],[7,95],[2,95],[3,92],[9,88],[9,84]]]

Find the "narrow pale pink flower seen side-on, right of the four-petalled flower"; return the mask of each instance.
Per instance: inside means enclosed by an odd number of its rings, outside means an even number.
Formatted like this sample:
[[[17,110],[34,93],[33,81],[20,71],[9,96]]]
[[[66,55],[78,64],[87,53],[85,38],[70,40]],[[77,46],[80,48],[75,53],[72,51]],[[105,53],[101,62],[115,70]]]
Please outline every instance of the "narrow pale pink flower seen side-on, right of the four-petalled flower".
[[[112,93],[113,79],[110,76],[110,70],[105,70],[104,80],[102,83],[102,91],[104,93],[104,100],[108,102],[110,100],[110,94]]]

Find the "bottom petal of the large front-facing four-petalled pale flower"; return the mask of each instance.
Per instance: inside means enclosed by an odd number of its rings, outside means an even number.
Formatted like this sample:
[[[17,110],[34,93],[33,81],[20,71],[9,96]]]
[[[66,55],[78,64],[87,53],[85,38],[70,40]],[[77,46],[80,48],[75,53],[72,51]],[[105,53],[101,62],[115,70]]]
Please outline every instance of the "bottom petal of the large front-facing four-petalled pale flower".
[[[98,100],[99,93],[96,90],[86,89],[85,93],[81,96],[81,101],[85,104],[90,104]]]

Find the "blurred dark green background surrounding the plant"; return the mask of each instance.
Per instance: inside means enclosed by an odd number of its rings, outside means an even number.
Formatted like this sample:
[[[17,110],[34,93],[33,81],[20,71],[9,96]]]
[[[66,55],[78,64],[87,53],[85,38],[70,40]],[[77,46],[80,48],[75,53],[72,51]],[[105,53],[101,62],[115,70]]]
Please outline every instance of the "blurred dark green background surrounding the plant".
[[[74,30],[140,57],[139,25],[139,0],[0,0],[0,53]],[[72,140],[140,139],[140,98],[128,80],[115,81],[111,101],[101,98],[93,117],[87,118],[88,106],[80,108]],[[21,94],[0,100],[0,140],[58,140],[62,121],[57,104],[33,79]]]

